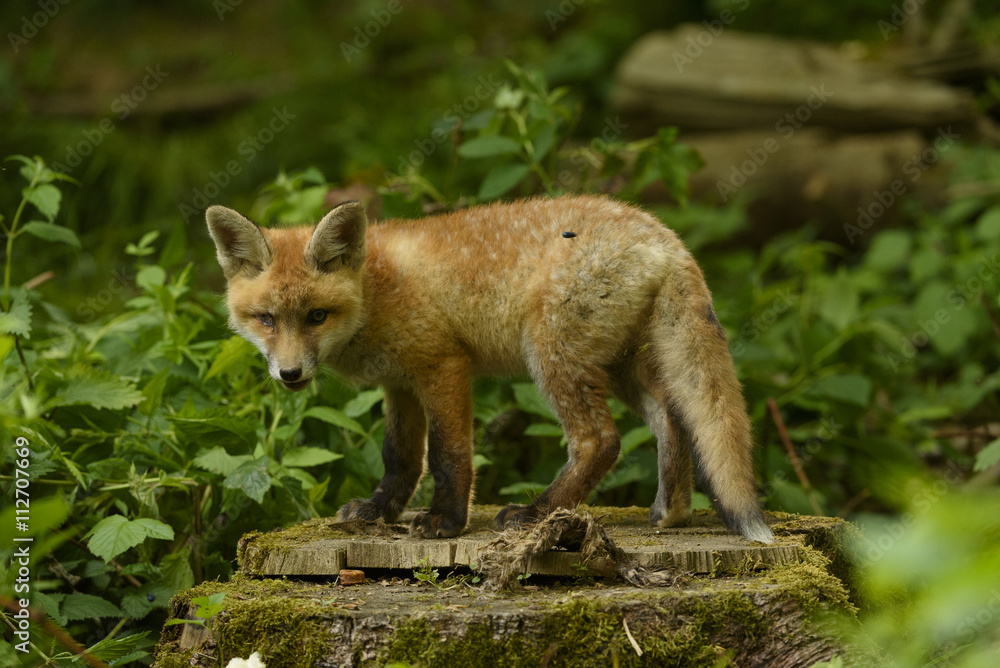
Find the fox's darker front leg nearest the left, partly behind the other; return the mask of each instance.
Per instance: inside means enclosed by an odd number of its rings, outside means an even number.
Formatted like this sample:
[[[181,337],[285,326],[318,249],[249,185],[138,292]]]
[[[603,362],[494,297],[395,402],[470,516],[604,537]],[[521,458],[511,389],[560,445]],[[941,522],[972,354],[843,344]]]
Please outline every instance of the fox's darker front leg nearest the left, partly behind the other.
[[[382,460],[385,476],[369,499],[345,504],[337,518],[395,522],[410,502],[423,475],[427,447],[427,418],[417,396],[408,389],[385,388],[385,440]]]

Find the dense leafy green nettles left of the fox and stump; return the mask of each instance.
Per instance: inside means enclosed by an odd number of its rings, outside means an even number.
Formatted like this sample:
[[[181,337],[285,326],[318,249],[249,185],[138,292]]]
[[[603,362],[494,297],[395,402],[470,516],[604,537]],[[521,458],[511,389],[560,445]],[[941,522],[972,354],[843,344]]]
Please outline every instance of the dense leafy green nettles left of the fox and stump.
[[[68,179],[16,159],[28,185],[10,224],[0,221],[7,257],[21,234],[79,247],[54,222],[55,184]],[[24,224],[32,211],[46,220]],[[66,638],[115,665],[148,657],[171,596],[229,577],[243,533],[329,515],[382,473],[381,393],[335,379],[309,396],[271,392],[218,296],[193,288],[193,267],[172,266],[166,251],[154,261],[157,239],[125,249],[135,285],[124,310],[85,324],[47,302],[40,279],[17,286],[16,261],[6,265],[0,437],[29,444],[23,535],[39,537],[31,604],[47,620],[31,646],[51,665],[78,665]],[[13,456],[5,447],[5,471]],[[0,477],[5,496],[13,484]],[[6,536],[13,508],[2,519]],[[0,656],[13,652],[0,641]]]

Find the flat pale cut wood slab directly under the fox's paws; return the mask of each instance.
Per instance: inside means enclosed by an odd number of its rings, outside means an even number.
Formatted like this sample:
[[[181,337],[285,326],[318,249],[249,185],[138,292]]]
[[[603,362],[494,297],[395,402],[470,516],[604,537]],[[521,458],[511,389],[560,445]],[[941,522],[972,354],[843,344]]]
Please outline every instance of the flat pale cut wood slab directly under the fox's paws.
[[[483,547],[497,536],[493,517],[499,507],[474,508],[469,529],[457,538],[427,540],[409,536],[405,520],[397,525],[310,520],[271,533],[253,533],[239,545],[241,571],[254,576],[336,575],[342,568],[452,568],[479,561]],[[696,513],[687,527],[660,529],[649,525],[646,508],[581,508],[608,529],[615,544],[640,566],[666,566],[710,573],[744,564],[788,564],[799,558],[801,518],[782,522],[772,517],[778,539],[773,545],[735,536],[708,512]],[[839,520],[810,518],[810,526],[833,526]],[[792,524],[800,527],[795,529]],[[786,528],[786,525],[788,528]],[[786,535],[782,536],[782,531]],[[554,550],[532,557],[527,571],[539,575],[601,574],[602,564],[580,563],[576,552]]]

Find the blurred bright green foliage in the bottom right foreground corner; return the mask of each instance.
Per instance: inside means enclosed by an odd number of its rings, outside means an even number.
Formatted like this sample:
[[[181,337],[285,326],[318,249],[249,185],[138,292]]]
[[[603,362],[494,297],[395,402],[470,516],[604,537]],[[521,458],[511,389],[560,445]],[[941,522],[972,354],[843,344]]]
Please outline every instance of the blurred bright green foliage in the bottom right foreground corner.
[[[864,633],[898,668],[991,666],[1000,650],[1000,507],[996,490],[899,481],[898,517],[868,516],[852,545],[869,603]]]

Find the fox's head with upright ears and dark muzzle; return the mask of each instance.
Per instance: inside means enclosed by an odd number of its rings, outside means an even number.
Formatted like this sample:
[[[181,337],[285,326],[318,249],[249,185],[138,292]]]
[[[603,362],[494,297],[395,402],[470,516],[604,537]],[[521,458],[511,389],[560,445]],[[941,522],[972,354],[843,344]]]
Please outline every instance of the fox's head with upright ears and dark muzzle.
[[[285,229],[223,206],[205,218],[226,275],[230,326],[260,349],[272,378],[305,389],[361,326],[364,209],[345,202],[315,227]]]

